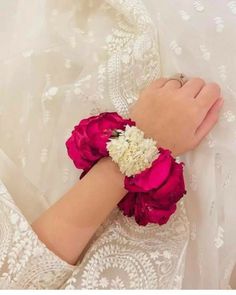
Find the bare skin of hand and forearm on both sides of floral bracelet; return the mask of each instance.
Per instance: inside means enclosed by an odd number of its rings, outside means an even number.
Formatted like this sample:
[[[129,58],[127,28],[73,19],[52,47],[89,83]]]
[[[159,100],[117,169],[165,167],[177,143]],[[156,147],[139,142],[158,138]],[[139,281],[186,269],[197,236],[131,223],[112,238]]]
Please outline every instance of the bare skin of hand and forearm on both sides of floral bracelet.
[[[130,118],[174,156],[195,149],[214,127],[223,105],[220,87],[200,78],[183,87],[161,78],[142,91]],[[110,157],[101,159],[32,228],[69,264],[76,264],[91,237],[127,191],[124,175]]]

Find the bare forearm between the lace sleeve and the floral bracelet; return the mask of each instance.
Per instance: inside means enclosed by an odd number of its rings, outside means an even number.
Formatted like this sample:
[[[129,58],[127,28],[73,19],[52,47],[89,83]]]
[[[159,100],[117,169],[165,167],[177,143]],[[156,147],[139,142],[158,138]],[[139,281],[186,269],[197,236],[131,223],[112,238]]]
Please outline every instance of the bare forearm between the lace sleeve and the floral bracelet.
[[[110,158],[103,158],[32,228],[50,250],[75,264],[99,225],[125,194],[124,176],[118,166]]]

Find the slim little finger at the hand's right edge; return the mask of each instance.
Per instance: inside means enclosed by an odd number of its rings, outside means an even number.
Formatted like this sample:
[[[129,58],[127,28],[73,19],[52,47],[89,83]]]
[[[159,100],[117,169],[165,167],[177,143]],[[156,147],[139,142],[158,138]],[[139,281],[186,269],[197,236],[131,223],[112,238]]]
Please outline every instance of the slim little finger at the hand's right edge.
[[[217,123],[219,112],[223,106],[223,103],[223,98],[218,98],[211,109],[208,111],[205,119],[202,121],[195,132],[197,142],[200,142]]]

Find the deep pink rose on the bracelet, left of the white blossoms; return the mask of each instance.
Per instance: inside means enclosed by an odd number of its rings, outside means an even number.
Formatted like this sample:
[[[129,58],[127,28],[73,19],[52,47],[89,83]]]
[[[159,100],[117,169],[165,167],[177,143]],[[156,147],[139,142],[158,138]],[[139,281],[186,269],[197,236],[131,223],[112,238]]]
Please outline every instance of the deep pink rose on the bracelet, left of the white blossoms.
[[[108,156],[106,143],[114,129],[124,130],[135,122],[123,119],[116,112],[104,112],[80,121],[66,141],[69,157],[78,169],[86,172],[102,157]]]

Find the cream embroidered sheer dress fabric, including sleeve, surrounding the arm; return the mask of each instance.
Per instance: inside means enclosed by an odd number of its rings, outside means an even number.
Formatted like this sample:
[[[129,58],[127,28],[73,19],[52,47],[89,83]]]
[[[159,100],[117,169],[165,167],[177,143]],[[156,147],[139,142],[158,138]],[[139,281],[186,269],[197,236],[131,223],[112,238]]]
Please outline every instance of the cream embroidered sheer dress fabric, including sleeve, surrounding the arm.
[[[0,288],[235,287],[236,1],[1,1],[0,24]],[[65,140],[89,115],[128,116],[143,87],[176,72],[225,98],[183,157],[187,196],[164,226],[115,208],[68,265],[30,227],[81,173]]]

